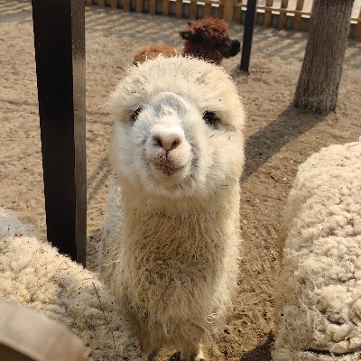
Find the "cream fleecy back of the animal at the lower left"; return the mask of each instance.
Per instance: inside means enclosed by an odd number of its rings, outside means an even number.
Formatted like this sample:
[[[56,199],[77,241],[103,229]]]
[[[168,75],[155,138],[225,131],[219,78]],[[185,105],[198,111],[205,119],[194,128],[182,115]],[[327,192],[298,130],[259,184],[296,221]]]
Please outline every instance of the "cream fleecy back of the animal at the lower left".
[[[0,208],[0,298],[37,310],[82,339],[88,360],[139,360],[112,294],[97,277]]]

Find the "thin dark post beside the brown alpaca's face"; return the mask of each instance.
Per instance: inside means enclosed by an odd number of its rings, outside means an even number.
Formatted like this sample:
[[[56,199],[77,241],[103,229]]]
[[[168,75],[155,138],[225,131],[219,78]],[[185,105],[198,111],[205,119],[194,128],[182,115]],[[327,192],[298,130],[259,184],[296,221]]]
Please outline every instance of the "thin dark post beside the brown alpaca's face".
[[[247,1],[247,10],[245,12],[245,31],[243,35],[242,58],[239,69],[248,72],[249,60],[251,57],[252,38],[254,36],[255,9],[257,0]]]

